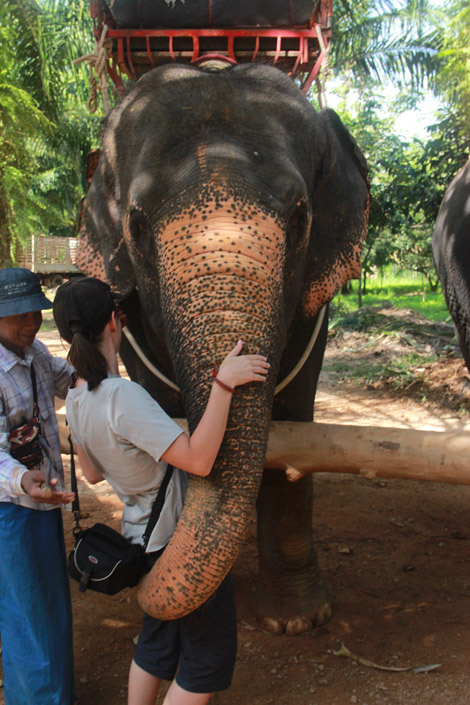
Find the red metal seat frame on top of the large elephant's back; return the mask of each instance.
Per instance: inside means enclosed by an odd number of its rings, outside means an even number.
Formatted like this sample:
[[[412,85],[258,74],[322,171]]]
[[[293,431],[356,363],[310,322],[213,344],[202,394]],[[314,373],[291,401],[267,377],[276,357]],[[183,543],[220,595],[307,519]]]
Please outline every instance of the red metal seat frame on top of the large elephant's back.
[[[105,36],[107,70],[119,93],[124,92],[123,77],[136,79],[172,61],[195,64],[210,59],[270,63],[299,78],[307,93],[331,39],[332,3],[318,0],[310,26],[290,28],[124,29],[116,27],[103,0],[90,0],[90,13],[96,40]]]

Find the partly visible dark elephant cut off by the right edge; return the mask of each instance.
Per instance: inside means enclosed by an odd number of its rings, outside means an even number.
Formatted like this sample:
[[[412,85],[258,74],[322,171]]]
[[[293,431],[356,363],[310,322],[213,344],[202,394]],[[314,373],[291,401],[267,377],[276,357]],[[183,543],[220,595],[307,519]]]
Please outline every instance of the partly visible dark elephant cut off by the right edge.
[[[470,371],[470,160],[444,194],[432,234],[432,253]]]

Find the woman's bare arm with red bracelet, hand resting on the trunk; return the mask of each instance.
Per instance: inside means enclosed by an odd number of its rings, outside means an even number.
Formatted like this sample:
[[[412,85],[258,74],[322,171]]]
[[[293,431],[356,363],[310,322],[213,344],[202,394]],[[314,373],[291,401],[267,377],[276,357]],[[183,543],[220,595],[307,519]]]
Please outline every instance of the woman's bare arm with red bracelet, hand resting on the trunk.
[[[240,355],[240,340],[220,366],[217,379],[223,385],[236,387],[247,382],[264,382],[269,363],[262,355]],[[219,452],[227,426],[232,394],[215,383],[202,418],[192,436],[181,434],[162,455],[172,465],[193,475],[209,475]]]

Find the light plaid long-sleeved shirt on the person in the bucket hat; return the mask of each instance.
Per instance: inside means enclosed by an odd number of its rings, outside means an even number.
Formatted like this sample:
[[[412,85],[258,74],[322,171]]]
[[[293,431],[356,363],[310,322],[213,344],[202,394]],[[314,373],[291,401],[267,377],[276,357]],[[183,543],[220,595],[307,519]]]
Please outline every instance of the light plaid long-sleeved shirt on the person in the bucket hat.
[[[55,505],[41,504],[29,497],[21,487],[21,478],[27,468],[10,455],[8,436],[16,426],[30,421],[33,416],[33,390],[30,366],[34,361],[38,390],[42,434],[52,451],[52,474],[64,489],[64,470],[60,457],[60,438],[54,410],[54,395],[65,399],[73,369],[68,363],[53,357],[39,340],[26,348],[25,359],[0,344],[0,502],[13,502],[32,509],[55,509]],[[40,469],[46,473],[47,460]]]

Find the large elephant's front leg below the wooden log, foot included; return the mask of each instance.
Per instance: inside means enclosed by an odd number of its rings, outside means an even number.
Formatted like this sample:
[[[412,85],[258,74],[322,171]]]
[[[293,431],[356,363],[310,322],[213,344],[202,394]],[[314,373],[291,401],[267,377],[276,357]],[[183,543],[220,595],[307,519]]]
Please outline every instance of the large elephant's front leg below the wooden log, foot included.
[[[328,621],[333,595],[318,567],[312,532],[312,477],[263,474],[257,501],[258,614],[274,633],[301,634]]]

